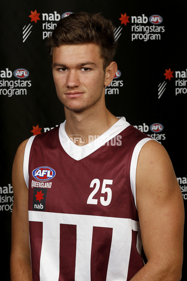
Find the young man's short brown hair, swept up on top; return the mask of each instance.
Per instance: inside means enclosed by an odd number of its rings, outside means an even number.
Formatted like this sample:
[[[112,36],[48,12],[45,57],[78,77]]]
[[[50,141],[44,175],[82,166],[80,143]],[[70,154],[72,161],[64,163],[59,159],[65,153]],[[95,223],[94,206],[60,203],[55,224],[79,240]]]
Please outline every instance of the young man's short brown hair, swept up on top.
[[[50,59],[53,59],[54,47],[60,45],[95,43],[100,47],[103,58],[103,69],[113,61],[117,42],[114,36],[114,26],[100,13],[72,13],[62,18],[48,38]]]

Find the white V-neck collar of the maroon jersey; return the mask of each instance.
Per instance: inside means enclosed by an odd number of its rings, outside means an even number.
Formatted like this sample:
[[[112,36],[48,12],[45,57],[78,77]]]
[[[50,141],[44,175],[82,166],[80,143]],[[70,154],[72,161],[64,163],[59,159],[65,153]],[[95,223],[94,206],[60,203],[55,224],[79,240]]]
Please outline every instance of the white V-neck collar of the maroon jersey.
[[[66,120],[60,124],[59,128],[59,139],[60,143],[65,150],[65,152],[72,157],[74,160],[81,160],[86,156],[90,155],[94,151],[96,151],[99,147],[104,145],[107,141],[113,139],[113,137],[117,136],[121,131],[130,126],[130,124],[126,121],[125,117],[117,117],[119,120],[110,127],[106,132],[104,132],[101,136],[99,136],[94,141],[78,146],[73,141],[70,140],[65,131]]]

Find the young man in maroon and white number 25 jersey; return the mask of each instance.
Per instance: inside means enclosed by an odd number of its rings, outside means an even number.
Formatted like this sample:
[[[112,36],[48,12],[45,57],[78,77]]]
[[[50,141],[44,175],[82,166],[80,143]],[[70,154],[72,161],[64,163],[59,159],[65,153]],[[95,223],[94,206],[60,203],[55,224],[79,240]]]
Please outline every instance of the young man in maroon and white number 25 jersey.
[[[113,30],[100,14],[78,13],[49,38],[66,121],[17,150],[12,281],[181,279],[184,206],[170,158],[105,106]],[[74,144],[77,135],[87,142]]]

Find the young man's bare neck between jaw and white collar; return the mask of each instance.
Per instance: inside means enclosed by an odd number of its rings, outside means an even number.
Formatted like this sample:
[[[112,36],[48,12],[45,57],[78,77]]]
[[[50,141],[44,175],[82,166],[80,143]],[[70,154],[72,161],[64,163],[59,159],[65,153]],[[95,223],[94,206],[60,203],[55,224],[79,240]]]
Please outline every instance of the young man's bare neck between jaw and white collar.
[[[65,108],[65,116],[67,135],[82,135],[87,139],[87,143],[102,135],[118,121],[105,104],[83,112],[74,112]]]

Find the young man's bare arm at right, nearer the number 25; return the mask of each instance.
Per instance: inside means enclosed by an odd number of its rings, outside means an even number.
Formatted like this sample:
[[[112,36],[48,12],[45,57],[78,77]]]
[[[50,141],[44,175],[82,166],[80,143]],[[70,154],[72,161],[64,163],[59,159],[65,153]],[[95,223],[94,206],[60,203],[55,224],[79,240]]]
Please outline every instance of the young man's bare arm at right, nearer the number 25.
[[[184,204],[164,147],[148,141],[137,164],[137,209],[147,264],[132,281],[179,281],[183,262]]]

